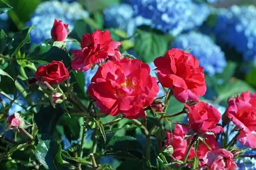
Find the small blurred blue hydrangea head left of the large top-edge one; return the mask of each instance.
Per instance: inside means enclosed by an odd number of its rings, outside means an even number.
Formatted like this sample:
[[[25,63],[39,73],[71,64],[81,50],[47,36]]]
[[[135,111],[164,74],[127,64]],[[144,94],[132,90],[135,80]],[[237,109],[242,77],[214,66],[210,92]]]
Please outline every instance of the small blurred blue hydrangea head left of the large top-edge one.
[[[133,17],[133,8],[128,4],[115,4],[104,9],[103,15],[106,27],[126,31],[127,25]]]

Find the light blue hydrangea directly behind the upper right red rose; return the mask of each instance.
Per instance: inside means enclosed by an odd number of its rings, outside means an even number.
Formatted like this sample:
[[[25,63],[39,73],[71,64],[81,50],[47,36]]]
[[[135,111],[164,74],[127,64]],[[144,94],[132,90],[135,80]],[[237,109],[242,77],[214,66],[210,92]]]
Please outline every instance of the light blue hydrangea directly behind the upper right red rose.
[[[221,73],[227,64],[221,48],[209,36],[201,33],[180,35],[173,41],[172,47],[188,50],[199,60],[209,76]]]

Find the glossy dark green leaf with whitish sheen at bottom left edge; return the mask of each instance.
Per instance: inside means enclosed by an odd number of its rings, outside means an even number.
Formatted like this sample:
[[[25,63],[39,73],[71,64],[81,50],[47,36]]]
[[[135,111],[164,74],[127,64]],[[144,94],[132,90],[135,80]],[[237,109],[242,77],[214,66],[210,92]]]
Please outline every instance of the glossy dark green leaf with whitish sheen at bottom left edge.
[[[63,160],[61,158],[61,147],[47,134],[38,134],[38,144],[35,147],[36,159],[46,168],[50,170],[58,170],[61,168]]]

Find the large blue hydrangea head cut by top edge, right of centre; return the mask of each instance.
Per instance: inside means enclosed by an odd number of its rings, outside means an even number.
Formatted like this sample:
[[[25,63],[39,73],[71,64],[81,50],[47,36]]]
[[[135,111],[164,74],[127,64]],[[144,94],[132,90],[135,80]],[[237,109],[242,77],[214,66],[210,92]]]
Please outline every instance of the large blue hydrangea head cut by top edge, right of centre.
[[[134,18],[149,19],[151,22],[146,21],[148,26],[174,36],[202,25],[209,15],[206,4],[194,3],[191,0],[126,0],[125,2],[133,7]]]

